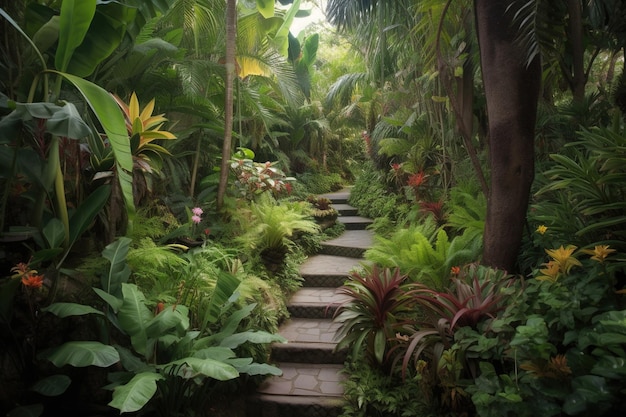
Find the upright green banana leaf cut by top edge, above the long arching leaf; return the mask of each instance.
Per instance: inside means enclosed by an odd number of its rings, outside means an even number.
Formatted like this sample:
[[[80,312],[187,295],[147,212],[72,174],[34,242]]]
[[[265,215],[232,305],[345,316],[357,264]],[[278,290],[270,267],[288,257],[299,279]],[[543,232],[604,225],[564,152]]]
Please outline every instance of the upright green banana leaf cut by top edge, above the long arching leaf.
[[[54,65],[65,72],[74,50],[83,42],[96,14],[97,0],[64,0],[59,21],[59,44]]]

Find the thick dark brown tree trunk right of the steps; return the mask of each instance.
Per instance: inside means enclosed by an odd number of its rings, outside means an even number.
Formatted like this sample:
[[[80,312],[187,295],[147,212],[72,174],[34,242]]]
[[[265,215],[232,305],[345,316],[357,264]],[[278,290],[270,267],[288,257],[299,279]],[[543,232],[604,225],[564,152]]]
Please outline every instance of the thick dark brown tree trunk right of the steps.
[[[515,3],[475,0],[489,120],[491,186],[483,263],[512,271],[534,176],[534,133],[541,84],[539,59],[527,64],[515,42]]]

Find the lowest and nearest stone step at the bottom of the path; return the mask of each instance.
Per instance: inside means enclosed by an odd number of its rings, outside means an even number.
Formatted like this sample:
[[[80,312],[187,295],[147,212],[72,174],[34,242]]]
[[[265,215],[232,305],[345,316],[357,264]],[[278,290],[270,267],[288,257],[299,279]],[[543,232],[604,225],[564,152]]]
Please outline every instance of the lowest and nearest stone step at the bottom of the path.
[[[247,417],[337,417],[345,404],[342,365],[280,363],[248,400]]]

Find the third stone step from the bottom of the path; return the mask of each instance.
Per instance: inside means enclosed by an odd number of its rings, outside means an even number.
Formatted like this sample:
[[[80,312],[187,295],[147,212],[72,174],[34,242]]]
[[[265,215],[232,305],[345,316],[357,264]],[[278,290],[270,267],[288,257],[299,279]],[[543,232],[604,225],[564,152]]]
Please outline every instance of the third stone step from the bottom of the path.
[[[348,300],[336,287],[303,287],[291,296],[287,310],[291,317],[330,319]]]

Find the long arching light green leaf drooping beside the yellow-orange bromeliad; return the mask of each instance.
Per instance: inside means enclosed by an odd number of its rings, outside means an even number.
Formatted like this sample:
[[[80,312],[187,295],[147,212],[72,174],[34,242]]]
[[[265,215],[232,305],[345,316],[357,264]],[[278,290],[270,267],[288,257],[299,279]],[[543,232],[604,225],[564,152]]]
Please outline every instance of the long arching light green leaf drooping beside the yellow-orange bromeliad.
[[[117,102],[113,97],[98,85],[84,80],[75,75],[60,73],[63,78],[74,84],[87,101],[100,121],[106,133],[117,166],[117,176],[122,189],[122,196],[126,204],[128,215],[128,228],[132,228],[132,221],[135,217],[135,203],[133,200],[133,157],[130,150],[130,141],[126,130],[126,122]]]

